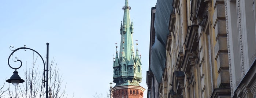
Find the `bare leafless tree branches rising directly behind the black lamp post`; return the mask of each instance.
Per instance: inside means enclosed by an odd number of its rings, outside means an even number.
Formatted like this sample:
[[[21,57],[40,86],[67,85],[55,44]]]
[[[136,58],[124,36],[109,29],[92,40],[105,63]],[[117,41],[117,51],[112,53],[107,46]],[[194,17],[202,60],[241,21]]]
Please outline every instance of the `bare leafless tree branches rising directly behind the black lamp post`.
[[[34,59],[35,58],[35,59]],[[36,65],[37,57],[33,55],[33,63],[31,67],[24,71],[25,83],[18,84],[15,89],[8,89],[10,98],[44,98],[44,75],[38,70],[39,65]],[[41,67],[40,67],[41,68]],[[51,60],[49,65],[49,98],[67,98],[65,94],[66,85],[62,88],[62,74],[60,74],[57,64],[54,59]],[[1,92],[0,92],[1,93]]]

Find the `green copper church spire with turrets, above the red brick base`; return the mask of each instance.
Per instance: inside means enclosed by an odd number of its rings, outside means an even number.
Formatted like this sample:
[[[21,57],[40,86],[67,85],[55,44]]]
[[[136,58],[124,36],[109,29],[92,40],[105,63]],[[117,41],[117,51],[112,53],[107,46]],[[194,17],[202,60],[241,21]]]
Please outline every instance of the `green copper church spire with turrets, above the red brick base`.
[[[131,7],[128,5],[128,0],[125,0],[123,10],[123,21],[121,22],[120,26],[120,51],[119,56],[118,52],[116,51],[116,56],[113,63],[113,82],[116,83],[116,86],[131,84],[140,86],[139,83],[142,79],[141,62],[140,58],[138,57],[138,51],[136,51],[136,55],[134,52],[133,22],[130,21],[129,11],[131,10]]]

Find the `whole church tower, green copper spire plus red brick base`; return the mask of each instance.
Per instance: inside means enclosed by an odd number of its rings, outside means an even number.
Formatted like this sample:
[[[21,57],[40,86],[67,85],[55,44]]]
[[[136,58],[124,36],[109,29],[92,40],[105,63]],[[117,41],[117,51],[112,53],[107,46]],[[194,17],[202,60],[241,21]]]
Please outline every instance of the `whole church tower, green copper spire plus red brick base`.
[[[120,50],[118,46],[113,63],[113,82],[116,83],[113,90],[113,98],[143,98],[145,88],[140,86],[142,79],[141,58],[138,48],[134,50],[133,44],[133,22],[130,21],[131,7],[128,0],[125,0],[123,7],[123,23],[120,26]],[[136,44],[138,45],[138,44]]]

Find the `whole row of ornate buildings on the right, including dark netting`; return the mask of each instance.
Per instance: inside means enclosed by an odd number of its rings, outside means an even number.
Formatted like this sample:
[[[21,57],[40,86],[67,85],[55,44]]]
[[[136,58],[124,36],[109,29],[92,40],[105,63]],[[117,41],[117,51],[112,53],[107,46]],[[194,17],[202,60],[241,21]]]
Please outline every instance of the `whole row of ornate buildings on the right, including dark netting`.
[[[148,98],[256,98],[255,8],[255,0],[157,0]]]

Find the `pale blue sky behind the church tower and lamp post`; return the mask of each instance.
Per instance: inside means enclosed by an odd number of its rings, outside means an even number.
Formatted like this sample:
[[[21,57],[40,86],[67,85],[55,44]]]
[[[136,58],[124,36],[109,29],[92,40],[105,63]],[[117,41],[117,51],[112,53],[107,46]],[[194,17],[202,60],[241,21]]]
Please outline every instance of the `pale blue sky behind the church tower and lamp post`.
[[[26,45],[45,57],[49,42],[49,60],[54,57],[60,67],[69,98],[93,98],[96,92],[105,96],[113,81],[112,55],[115,42],[120,44],[124,5],[125,0],[0,0],[0,86],[14,71],[7,64],[11,45]],[[141,54],[141,86],[147,88],[151,7],[156,0],[129,0],[129,5]],[[32,52],[22,53],[15,56],[31,64]],[[18,69],[21,78],[24,68]]]

